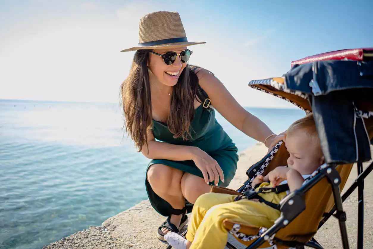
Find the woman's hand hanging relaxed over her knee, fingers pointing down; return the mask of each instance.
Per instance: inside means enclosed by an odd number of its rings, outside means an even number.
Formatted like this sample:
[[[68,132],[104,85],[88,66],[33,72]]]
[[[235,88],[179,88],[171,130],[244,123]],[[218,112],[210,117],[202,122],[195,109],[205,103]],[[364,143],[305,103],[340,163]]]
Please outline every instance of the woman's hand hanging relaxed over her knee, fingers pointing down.
[[[195,166],[200,169],[203,174],[204,181],[209,184],[209,182],[214,181],[215,186],[219,183],[219,177],[224,182],[224,174],[222,168],[209,154],[204,152],[198,147],[194,147],[193,162]]]

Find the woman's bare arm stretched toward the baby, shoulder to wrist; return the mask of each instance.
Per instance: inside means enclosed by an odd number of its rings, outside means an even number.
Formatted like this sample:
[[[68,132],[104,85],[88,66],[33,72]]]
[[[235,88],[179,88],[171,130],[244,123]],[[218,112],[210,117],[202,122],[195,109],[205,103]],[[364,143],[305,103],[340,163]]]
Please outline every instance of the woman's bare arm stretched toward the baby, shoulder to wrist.
[[[211,105],[214,106],[225,119],[232,125],[241,130],[247,136],[254,138],[262,143],[269,135],[273,134],[260,119],[242,108],[241,105],[233,98],[229,91],[224,87],[214,75],[206,70],[200,70],[197,73],[199,83],[211,99]],[[266,141],[266,146],[272,144],[272,136]]]

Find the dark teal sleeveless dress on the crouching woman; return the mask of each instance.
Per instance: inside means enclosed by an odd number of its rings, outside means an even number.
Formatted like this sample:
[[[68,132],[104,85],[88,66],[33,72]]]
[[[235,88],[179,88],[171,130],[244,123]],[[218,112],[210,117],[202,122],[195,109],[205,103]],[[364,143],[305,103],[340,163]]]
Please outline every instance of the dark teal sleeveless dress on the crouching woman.
[[[216,121],[215,111],[213,109],[204,108],[203,104],[198,106],[194,111],[194,119],[191,122],[191,128],[192,139],[185,141],[182,140],[182,138],[173,138],[173,134],[168,129],[167,124],[153,120],[153,134],[157,140],[170,144],[199,147],[214,158],[224,172],[224,183],[219,180],[218,186],[228,186],[237,169],[237,147]],[[153,164],[167,165],[203,178],[202,172],[195,166],[192,160],[172,161],[153,159],[149,163],[147,170]],[[210,184],[213,184],[213,182]],[[171,205],[154,193],[146,177],[145,186],[153,208],[163,216],[170,216]],[[186,201],[186,209],[188,212],[192,211],[192,206],[191,203]]]

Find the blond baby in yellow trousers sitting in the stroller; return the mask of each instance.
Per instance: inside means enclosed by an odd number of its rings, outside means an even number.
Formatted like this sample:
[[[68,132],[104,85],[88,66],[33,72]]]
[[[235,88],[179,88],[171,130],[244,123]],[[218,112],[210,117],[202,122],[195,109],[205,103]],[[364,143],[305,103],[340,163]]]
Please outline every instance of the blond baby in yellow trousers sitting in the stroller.
[[[264,177],[258,175],[252,186],[261,183],[260,186],[275,187],[288,183],[289,191],[293,192],[324,163],[312,114],[290,125],[286,131],[285,146],[290,154],[288,166],[278,166]],[[288,193],[261,193],[260,197],[278,204]],[[265,203],[248,199],[234,201],[236,197],[219,193],[201,195],[194,204],[186,239],[173,232],[167,233],[164,239],[175,249],[223,249],[228,239],[228,231],[223,227],[226,218],[257,227],[271,227],[280,216],[278,209]]]

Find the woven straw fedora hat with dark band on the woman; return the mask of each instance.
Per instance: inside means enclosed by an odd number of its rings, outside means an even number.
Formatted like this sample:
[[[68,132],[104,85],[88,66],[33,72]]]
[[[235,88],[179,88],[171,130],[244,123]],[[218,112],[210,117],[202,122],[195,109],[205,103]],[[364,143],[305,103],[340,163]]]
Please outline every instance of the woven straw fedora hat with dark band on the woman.
[[[123,49],[120,52],[174,48],[203,43],[206,42],[188,42],[178,12],[159,11],[149,13],[140,19],[138,47]]]

